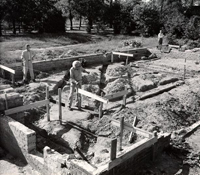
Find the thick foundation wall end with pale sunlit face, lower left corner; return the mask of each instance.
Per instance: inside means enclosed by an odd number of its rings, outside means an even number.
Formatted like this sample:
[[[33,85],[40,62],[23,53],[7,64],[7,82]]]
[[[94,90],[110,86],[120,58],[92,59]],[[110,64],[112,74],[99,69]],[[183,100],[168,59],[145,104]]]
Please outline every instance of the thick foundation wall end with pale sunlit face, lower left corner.
[[[11,117],[0,117],[0,145],[26,162],[24,153],[36,149],[36,133]]]

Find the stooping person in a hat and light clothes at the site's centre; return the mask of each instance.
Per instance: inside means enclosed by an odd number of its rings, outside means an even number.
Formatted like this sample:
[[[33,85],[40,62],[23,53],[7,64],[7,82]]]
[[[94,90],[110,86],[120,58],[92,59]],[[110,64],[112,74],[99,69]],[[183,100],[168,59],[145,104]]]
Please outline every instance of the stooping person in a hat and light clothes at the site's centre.
[[[80,61],[74,61],[72,63],[72,67],[70,69],[70,94],[68,99],[68,108],[69,110],[72,110],[71,106],[73,103],[73,94],[75,89],[81,88],[82,86],[82,72],[88,73],[82,66]],[[81,109],[81,95],[77,93],[76,98],[76,104],[75,106],[78,107],[78,109]]]

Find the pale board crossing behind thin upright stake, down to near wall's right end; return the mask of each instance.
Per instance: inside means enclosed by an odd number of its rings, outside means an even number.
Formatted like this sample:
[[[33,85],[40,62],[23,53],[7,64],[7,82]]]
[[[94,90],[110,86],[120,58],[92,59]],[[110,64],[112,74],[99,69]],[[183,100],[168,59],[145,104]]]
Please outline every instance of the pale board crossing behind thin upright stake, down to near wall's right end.
[[[111,124],[114,126],[120,127],[120,122],[118,120],[112,119]],[[153,137],[153,134],[145,131],[143,129],[133,127],[131,124],[124,122],[124,129],[127,129],[128,131],[135,132],[136,134],[143,135],[144,137],[150,138]]]

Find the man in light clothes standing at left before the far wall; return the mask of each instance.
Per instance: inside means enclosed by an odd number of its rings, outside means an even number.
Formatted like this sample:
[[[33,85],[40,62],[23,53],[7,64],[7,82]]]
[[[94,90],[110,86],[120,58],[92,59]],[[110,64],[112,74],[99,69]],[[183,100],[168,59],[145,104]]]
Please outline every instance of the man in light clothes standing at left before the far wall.
[[[22,52],[22,64],[23,64],[23,83],[28,83],[28,71],[30,73],[31,80],[35,82],[34,73],[33,73],[33,63],[32,60],[35,57],[33,51],[31,51],[31,46],[26,45],[26,50]]]

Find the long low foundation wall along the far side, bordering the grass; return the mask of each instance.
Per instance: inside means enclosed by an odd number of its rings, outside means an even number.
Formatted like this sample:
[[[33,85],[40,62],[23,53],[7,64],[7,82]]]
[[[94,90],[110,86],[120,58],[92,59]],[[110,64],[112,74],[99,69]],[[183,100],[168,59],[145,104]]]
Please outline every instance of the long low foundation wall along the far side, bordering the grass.
[[[139,60],[142,56],[149,56],[151,53],[146,48],[132,48],[130,50],[121,50],[120,52],[123,53],[130,53],[133,54],[133,57],[129,57],[129,61]],[[45,61],[35,61],[33,62],[33,68],[35,69],[35,73],[39,74],[41,72],[50,72],[54,70],[68,70],[72,62],[78,60],[80,58],[84,58],[88,65],[95,65],[95,64],[105,64],[111,61],[111,53],[103,54],[89,54],[89,55],[82,55],[82,56],[75,56],[75,57],[68,57],[62,59],[53,59],[53,60],[45,60]],[[118,56],[114,55],[114,62],[125,61],[126,56]],[[23,77],[22,73],[22,63],[15,63],[14,65],[6,65],[16,71],[15,79],[21,80]],[[10,74],[5,72],[6,78],[10,79]]]

